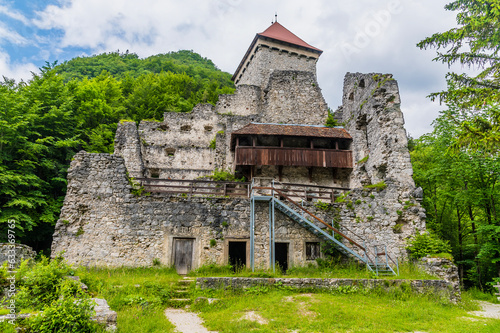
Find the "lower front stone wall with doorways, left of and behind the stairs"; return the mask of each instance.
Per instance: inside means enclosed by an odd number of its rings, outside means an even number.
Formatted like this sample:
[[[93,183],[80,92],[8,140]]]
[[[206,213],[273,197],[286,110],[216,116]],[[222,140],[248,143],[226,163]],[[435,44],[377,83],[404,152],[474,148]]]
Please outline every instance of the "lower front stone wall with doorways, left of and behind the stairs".
[[[248,241],[249,200],[151,194],[137,196],[122,157],[75,155],[68,191],[56,224],[52,255],[77,265],[173,264],[175,238],[194,239],[194,267],[225,264],[225,239]],[[268,205],[257,206],[256,263],[269,264]],[[306,240],[316,237],[276,212],[277,240],[290,243],[290,265],[304,263]],[[215,245],[212,240],[215,240]],[[225,252],[226,251],[226,252]]]

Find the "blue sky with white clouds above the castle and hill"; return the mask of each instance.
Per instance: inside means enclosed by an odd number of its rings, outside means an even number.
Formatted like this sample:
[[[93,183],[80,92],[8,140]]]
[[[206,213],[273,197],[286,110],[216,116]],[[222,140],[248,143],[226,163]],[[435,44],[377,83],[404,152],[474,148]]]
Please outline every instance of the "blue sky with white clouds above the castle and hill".
[[[324,52],[319,86],[332,110],[346,72],[391,73],[405,127],[432,131],[445,108],[427,95],[446,88],[447,65],[416,44],[456,25],[451,0],[0,0],[0,75],[29,80],[46,62],[103,52],[141,58],[193,50],[231,74],[256,33],[278,15],[287,29]],[[460,71],[461,68],[451,68]]]

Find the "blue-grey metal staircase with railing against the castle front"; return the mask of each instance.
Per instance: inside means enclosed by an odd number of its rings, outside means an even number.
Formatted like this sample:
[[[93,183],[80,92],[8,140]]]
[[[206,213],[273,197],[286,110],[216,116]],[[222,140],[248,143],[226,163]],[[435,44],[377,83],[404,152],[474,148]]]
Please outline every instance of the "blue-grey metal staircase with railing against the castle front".
[[[271,191],[271,195],[255,195],[254,190],[267,190]],[[344,233],[340,232],[335,227],[323,221],[321,218],[317,217],[313,213],[309,212],[307,209],[296,203],[290,197],[288,197],[285,193],[280,191],[279,189],[274,187],[274,182],[272,187],[257,187],[252,185],[251,191],[251,261],[253,268],[253,258],[254,258],[254,240],[253,240],[253,228],[255,227],[255,201],[268,201],[270,207],[270,239],[272,240],[270,243],[274,242],[274,226],[271,228],[271,223],[274,225],[274,209],[278,209],[283,214],[291,218],[293,221],[297,222],[302,227],[306,228],[319,238],[324,241],[334,245],[341,253],[348,257],[355,258],[358,262],[361,262],[366,265],[367,269],[374,272],[376,275],[398,275],[399,268],[397,260],[394,261],[387,253],[387,249],[384,247],[383,252],[378,252],[377,247],[375,247],[375,252],[371,252],[367,249],[365,242],[363,241],[363,245],[358,242],[352,240]],[[272,222],[271,222],[272,220]],[[323,227],[318,226],[323,225]],[[342,241],[337,239],[345,239],[351,246],[347,246]],[[271,245],[270,244],[270,245]],[[357,251],[354,251],[353,248],[357,248]],[[270,251],[272,252],[272,250]],[[385,260],[380,260],[379,257],[383,256]],[[389,265],[389,260],[393,261],[395,264],[394,270]],[[274,263],[274,257],[271,255],[271,262]],[[398,273],[396,273],[398,272]]]

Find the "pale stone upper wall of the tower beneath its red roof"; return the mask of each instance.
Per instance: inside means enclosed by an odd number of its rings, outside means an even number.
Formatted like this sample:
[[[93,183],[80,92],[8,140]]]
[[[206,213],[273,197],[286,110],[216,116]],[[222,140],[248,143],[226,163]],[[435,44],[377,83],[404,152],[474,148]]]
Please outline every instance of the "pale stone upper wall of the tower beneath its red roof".
[[[282,44],[266,41],[257,45],[237,85],[253,85],[264,89],[273,70],[306,71],[316,77],[317,55],[298,54],[298,50]]]

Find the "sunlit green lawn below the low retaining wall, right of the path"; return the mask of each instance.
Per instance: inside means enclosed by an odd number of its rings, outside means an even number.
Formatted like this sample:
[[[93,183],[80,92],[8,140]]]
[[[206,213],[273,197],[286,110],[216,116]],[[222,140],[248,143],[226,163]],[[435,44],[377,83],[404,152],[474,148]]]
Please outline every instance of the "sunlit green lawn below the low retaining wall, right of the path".
[[[214,292],[221,299],[195,310],[209,330],[220,332],[498,332],[500,320],[472,317],[471,302],[451,305],[432,295],[313,293],[287,290]],[[253,312],[266,324],[243,319]],[[476,321],[464,319],[473,318]]]

